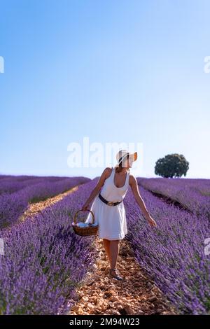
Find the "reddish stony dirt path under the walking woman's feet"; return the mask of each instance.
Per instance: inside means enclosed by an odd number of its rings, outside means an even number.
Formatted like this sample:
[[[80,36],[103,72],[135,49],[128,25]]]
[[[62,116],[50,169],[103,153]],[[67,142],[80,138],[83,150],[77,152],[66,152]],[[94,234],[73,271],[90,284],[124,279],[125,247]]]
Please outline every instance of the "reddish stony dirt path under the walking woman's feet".
[[[177,314],[176,309],[139,266],[126,239],[120,241],[117,263],[124,281],[110,276],[103,240],[95,237],[94,245],[98,251],[94,271],[87,272],[82,286],[76,291],[78,300],[69,315]]]

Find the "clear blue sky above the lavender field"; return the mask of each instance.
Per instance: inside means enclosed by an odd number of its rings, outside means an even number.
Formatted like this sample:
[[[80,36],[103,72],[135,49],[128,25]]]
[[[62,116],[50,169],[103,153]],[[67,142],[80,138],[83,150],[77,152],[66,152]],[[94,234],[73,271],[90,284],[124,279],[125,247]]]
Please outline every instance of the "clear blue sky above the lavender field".
[[[136,176],[180,153],[186,178],[210,178],[209,1],[0,6],[1,174],[99,176],[115,162],[67,163],[68,145],[88,137],[141,143]]]

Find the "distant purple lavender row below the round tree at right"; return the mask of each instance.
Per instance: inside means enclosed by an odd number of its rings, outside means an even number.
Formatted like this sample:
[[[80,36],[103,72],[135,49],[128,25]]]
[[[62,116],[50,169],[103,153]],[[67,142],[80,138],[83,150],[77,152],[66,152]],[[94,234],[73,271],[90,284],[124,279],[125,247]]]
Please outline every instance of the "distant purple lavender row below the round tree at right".
[[[209,179],[144,179],[137,178],[139,186],[179,202],[197,216],[210,219]]]

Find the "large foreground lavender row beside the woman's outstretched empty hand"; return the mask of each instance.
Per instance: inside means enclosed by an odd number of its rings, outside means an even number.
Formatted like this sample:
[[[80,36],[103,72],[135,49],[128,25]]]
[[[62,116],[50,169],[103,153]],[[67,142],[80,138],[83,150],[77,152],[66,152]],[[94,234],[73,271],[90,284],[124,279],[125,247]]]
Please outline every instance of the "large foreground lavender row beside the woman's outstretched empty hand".
[[[204,240],[210,237],[207,216],[190,214],[167,204],[139,187],[158,226],[146,223],[129,190],[125,197],[128,235],[139,264],[181,314],[207,314],[210,310],[210,255]]]

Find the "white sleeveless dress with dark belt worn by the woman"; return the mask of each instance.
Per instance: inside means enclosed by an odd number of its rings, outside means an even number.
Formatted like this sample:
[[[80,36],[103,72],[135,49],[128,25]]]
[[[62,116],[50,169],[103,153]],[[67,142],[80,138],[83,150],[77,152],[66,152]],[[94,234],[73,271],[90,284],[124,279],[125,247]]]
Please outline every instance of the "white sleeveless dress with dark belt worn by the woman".
[[[107,201],[118,202],[124,199],[129,188],[130,172],[127,172],[125,185],[117,188],[114,183],[115,167],[112,167],[111,175],[105,180],[100,191]],[[109,206],[99,199],[99,193],[94,199],[90,210],[94,214],[95,222],[99,224],[99,239],[117,240],[123,239],[127,234],[125,207],[123,202],[116,206]],[[92,223],[92,214],[89,212],[85,223]]]

